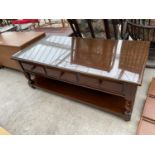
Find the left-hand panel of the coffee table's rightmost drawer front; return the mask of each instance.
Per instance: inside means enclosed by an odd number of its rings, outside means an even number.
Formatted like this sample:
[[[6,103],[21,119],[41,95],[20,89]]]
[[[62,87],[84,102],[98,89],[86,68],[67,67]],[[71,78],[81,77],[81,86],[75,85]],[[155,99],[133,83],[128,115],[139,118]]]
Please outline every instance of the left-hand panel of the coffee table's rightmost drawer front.
[[[79,84],[92,88],[99,88],[99,79],[95,77],[89,77],[87,75],[80,75]]]

